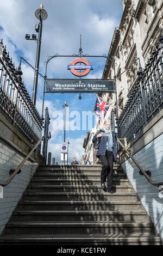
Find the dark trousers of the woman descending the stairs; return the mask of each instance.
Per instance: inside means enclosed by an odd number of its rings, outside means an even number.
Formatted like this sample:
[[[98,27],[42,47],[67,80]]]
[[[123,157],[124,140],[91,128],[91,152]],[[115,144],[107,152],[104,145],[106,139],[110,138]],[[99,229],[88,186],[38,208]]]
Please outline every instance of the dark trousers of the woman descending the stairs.
[[[114,161],[112,151],[106,150],[105,156],[99,156],[99,159],[102,163],[101,183],[104,183],[107,177],[108,191],[110,191],[112,187],[112,169]]]

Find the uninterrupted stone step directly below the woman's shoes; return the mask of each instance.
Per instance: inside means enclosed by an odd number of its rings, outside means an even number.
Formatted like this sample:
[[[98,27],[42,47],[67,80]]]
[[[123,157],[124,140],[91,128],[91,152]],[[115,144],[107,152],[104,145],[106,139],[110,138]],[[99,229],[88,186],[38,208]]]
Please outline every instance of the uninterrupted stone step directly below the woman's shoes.
[[[55,201],[82,201],[82,200],[104,200],[104,201],[110,201],[110,200],[137,200],[137,196],[135,193],[131,192],[120,192],[120,193],[113,193],[110,194],[108,192],[101,192],[101,193],[77,193],[77,192],[62,192],[62,193],[39,193],[39,192],[25,192],[23,196],[24,200],[55,200]]]

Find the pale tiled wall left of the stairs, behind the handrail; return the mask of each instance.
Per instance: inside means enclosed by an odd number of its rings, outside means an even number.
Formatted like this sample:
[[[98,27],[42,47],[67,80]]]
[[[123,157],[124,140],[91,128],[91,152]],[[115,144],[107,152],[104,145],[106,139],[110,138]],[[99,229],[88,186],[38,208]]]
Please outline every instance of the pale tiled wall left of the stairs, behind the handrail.
[[[0,182],[4,183],[9,178],[11,168],[16,169],[24,159],[24,155],[7,143],[0,140]],[[38,164],[27,161],[21,168],[21,173],[16,174],[9,185],[3,187],[3,198],[0,198],[0,234],[8,222],[12,211],[26,189],[30,178],[33,176]]]

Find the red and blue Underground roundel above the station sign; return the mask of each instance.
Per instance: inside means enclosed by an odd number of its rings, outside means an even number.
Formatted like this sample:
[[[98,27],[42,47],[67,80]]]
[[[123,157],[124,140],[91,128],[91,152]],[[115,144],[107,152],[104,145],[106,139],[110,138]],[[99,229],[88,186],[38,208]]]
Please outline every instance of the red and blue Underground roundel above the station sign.
[[[84,65],[77,65],[77,63],[83,63]],[[73,62],[68,65],[68,69],[70,69],[72,74],[75,76],[86,76],[89,74],[90,70],[93,69],[93,66],[86,59],[79,58],[74,59]],[[80,72],[77,70],[80,70]],[[82,72],[81,70],[84,71]]]

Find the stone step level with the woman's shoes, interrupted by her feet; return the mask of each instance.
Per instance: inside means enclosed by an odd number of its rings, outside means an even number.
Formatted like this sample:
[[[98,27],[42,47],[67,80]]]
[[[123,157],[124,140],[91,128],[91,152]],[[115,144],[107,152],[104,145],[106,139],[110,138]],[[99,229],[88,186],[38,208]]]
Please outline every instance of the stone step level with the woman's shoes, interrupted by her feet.
[[[112,186],[112,190],[114,192],[131,192],[133,188],[131,186],[121,186],[121,185],[116,185]],[[90,192],[90,193],[96,193],[96,192],[101,192],[103,191],[103,188],[101,185],[99,186],[93,186],[93,185],[72,185],[72,186],[62,186],[62,185],[29,185],[28,192]]]

